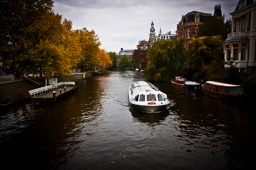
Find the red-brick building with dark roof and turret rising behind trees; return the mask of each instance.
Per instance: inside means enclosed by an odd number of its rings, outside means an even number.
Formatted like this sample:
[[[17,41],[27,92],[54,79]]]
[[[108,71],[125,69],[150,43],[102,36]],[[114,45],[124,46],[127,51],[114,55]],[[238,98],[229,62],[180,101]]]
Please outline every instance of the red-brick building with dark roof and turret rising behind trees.
[[[189,12],[185,16],[182,15],[181,21],[177,24],[176,39],[185,38],[185,48],[187,48],[188,41],[196,35],[199,25],[213,17],[219,17],[224,20],[224,16],[222,17],[221,5],[214,6],[213,15],[198,11]]]

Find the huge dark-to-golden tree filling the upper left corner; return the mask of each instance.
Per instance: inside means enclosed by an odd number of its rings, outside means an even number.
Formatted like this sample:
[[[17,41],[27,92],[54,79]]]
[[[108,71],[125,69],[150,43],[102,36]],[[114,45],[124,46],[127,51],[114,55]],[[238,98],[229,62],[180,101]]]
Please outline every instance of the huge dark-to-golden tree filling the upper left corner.
[[[79,60],[72,22],[54,14],[51,0],[1,1],[0,55],[21,72],[65,76]],[[42,74],[41,74],[42,75]]]

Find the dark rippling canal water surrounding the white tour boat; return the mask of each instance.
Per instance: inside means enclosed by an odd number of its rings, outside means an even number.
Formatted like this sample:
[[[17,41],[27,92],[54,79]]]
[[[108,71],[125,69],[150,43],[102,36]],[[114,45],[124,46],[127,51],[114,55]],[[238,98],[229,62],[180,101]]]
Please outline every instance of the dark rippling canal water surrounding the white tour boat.
[[[56,103],[1,108],[1,169],[255,168],[255,100],[151,82],[170,106],[149,113],[129,103],[138,80],[146,80],[138,71],[107,71],[77,81],[78,91]]]

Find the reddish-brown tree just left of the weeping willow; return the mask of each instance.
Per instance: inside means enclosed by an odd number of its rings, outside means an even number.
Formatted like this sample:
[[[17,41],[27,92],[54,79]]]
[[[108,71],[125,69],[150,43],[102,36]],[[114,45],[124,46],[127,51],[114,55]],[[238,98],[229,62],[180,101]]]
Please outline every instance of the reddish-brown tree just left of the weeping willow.
[[[139,41],[137,49],[133,51],[133,61],[135,61],[136,67],[145,68],[148,63],[148,50],[150,49],[150,43],[148,41]]]

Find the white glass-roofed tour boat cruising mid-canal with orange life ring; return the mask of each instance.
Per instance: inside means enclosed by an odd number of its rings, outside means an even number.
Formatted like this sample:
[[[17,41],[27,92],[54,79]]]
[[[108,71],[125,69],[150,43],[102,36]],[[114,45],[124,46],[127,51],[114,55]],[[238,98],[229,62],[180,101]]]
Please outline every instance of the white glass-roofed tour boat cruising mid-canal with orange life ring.
[[[145,81],[134,82],[130,85],[129,101],[133,106],[151,112],[158,111],[170,103],[167,94]]]

